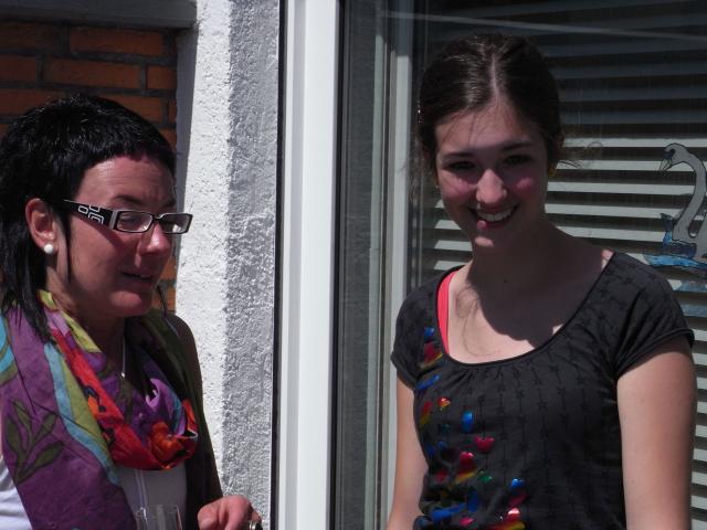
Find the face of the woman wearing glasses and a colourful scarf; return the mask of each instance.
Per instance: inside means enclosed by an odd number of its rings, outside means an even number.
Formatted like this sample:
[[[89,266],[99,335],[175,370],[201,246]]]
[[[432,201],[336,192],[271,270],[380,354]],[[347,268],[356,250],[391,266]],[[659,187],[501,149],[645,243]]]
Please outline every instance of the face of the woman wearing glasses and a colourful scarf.
[[[116,157],[88,169],[76,202],[154,214],[175,211],[173,178],[154,158]],[[71,277],[66,241],[59,241],[56,268],[48,289],[80,320],[98,324],[145,314],[171,254],[171,240],[158,223],[145,233],[117,232],[71,213]]]

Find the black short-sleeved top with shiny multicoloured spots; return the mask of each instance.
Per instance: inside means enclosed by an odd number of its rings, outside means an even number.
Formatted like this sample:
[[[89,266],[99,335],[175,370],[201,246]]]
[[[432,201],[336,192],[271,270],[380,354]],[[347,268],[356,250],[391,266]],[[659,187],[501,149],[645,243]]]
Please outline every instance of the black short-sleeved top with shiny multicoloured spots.
[[[667,282],[614,254],[545,344],[467,364],[439,333],[442,277],[403,303],[391,356],[429,466],[414,528],[625,528],[616,381],[665,341],[693,341]]]

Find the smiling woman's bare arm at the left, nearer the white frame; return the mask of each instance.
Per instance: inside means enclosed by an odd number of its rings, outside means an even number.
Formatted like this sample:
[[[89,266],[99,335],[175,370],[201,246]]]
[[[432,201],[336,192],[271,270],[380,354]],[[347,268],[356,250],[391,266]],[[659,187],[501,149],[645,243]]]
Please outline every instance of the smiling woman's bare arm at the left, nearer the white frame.
[[[412,390],[398,380],[398,439],[395,443],[395,484],[388,530],[410,530],[420,512],[418,502],[428,464],[422,454],[413,417]]]

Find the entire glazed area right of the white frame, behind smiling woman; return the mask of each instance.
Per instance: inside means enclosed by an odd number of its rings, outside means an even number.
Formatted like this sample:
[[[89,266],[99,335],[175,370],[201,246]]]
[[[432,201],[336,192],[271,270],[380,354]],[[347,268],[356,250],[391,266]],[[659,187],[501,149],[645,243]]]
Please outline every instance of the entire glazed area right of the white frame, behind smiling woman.
[[[644,262],[682,265],[661,271],[697,333],[693,511],[694,528],[707,528],[707,259],[693,252],[705,215],[707,4],[363,0],[344,10],[333,528],[384,526],[392,322],[407,289],[471,252],[432,182],[408,163],[419,76],[447,40],[489,31],[532,38],[559,81],[573,163],[550,182],[556,224]],[[659,170],[671,144],[697,157],[692,166]]]

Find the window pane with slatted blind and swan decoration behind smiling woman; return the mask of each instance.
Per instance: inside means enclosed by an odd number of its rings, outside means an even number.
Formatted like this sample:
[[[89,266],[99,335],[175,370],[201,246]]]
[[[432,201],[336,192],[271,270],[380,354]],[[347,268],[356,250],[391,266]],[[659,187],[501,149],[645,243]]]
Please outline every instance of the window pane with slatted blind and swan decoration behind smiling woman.
[[[420,6],[413,84],[440,46],[463,34],[528,35],[548,56],[560,85],[571,158],[550,181],[550,218],[570,234],[659,266],[696,331],[693,518],[694,528],[707,528],[707,4]],[[418,267],[410,271],[413,285],[465,262],[471,252],[434,187],[423,176],[416,178],[422,192],[415,203],[420,229],[410,239],[419,255]]]

